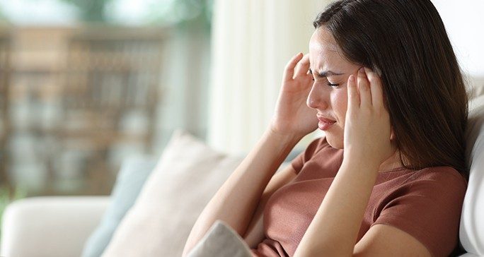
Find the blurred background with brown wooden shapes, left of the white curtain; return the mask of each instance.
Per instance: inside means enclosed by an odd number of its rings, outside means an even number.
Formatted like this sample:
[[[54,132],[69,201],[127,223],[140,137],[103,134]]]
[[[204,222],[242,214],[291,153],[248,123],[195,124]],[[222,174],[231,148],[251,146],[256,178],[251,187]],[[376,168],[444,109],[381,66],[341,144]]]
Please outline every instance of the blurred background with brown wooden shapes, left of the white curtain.
[[[174,128],[204,137],[210,0],[0,1],[0,184],[108,194]]]

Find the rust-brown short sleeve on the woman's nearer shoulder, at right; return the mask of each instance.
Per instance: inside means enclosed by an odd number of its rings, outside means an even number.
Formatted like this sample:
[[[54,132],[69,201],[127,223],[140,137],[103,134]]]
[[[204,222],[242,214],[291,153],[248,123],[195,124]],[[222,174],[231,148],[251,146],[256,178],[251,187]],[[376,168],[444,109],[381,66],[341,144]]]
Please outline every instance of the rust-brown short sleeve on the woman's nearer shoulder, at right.
[[[393,191],[372,226],[397,227],[424,244],[432,256],[449,256],[459,241],[466,181],[450,167],[418,172],[427,174]]]

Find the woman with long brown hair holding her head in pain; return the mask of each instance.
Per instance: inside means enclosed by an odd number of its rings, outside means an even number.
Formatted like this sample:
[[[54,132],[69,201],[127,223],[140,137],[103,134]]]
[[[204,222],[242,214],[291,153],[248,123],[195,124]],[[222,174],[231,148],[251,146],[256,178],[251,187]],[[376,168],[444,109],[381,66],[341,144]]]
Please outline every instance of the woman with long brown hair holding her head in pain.
[[[437,10],[343,0],[314,26],[309,54],[287,64],[270,127],[204,208],[184,255],[223,220],[253,256],[449,256],[466,191],[467,96]],[[325,137],[275,174],[316,128]]]

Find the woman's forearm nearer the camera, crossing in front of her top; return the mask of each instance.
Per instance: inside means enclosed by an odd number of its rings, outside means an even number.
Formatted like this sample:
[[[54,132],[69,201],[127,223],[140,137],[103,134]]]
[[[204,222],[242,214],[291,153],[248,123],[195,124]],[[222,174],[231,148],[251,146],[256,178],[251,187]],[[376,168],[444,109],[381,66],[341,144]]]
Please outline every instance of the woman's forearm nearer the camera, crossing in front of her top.
[[[343,161],[294,256],[352,256],[377,169]]]

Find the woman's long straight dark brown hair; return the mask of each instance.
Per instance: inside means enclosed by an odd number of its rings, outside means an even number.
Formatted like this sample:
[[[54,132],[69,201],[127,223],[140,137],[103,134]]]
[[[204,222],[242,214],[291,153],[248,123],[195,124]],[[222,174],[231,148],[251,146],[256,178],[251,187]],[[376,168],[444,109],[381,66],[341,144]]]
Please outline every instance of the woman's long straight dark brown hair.
[[[340,0],[318,14],[342,56],[381,77],[409,169],[451,166],[468,178],[468,96],[444,23],[430,0]]]

